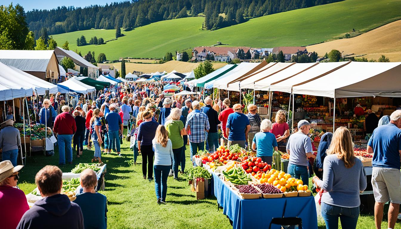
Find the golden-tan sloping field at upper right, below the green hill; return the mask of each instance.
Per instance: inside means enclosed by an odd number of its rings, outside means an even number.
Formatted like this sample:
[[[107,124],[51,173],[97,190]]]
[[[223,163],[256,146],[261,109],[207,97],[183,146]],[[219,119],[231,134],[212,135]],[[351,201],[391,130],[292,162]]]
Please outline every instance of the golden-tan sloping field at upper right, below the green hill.
[[[391,22],[349,39],[340,39],[308,46],[308,51],[328,53],[338,49],[343,55],[379,59],[385,55],[390,61],[401,61],[401,20]]]

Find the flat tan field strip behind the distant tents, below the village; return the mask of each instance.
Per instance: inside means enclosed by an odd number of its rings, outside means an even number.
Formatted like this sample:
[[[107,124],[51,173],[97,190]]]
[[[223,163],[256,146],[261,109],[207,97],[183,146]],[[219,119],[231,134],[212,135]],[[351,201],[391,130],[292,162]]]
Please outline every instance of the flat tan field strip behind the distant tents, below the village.
[[[168,61],[163,64],[138,64],[138,63],[126,63],[126,73],[134,72],[134,71],[142,71],[144,73],[152,73],[152,72],[171,72],[173,70],[178,71],[179,73],[186,73],[194,70],[198,67],[200,63],[188,63],[182,61]],[[227,63],[212,63],[214,69],[219,69]],[[121,63],[112,63],[112,65],[118,71],[121,69]]]

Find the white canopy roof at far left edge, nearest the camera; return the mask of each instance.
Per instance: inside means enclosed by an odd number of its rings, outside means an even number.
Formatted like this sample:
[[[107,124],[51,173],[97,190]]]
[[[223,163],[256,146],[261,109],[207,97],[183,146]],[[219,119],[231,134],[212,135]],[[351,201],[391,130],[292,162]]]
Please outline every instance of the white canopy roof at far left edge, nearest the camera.
[[[0,101],[32,96],[33,90],[28,83],[10,80],[23,75],[0,62]]]

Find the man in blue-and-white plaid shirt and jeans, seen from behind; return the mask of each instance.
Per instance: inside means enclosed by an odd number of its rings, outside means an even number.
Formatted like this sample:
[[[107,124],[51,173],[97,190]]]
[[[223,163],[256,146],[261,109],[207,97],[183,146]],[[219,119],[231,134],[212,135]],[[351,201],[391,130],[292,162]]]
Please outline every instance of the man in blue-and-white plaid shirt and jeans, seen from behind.
[[[192,102],[194,110],[186,118],[185,129],[189,134],[190,155],[192,157],[198,150],[205,149],[206,132],[209,132],[209,119],[207,115],[201,112],[201,105],[198,101]],[[194,161],[192,161],[194,163]]]

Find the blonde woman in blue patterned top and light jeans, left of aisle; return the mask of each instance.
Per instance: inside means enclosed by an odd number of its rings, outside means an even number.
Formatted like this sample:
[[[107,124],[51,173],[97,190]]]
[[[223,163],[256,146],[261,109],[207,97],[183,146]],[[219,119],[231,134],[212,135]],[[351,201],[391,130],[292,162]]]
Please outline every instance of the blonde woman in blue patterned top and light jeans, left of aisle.
[[[99,161],[99,163],[103,163],[101,161],[101,150],[100,146],[103,143],[101,139],[101,121],[100,121],[100,109],[96,108],[93,111],[93,116],[91,118],[90,127],[91,127],[91,139],[93,142],[93,146],[95,146],[95,153],[93,154],[92,162]]]

